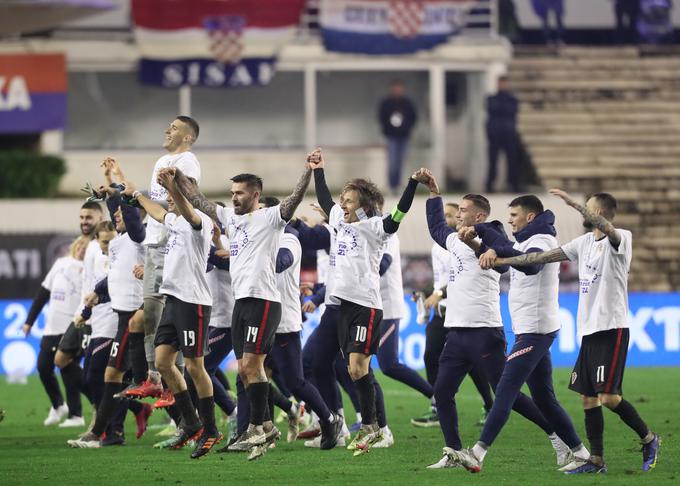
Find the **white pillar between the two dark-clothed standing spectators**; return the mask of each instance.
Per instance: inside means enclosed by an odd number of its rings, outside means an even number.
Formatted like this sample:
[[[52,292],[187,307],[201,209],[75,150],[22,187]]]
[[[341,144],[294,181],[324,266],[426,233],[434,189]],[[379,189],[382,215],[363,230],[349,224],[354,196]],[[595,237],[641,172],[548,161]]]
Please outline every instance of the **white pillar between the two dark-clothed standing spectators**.
[[[430,67],[430,170],[442,190],[446,174],[446,72],[442,66]]]

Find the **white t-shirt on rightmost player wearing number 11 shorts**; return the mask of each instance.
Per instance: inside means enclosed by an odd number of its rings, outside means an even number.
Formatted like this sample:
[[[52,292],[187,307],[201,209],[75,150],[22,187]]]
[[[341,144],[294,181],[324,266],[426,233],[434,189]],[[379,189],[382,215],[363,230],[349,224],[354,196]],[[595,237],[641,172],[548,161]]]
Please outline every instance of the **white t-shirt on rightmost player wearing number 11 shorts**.
[[[628,327],[628,272],[633,258],[633,235],[617,229],[618,249],[609,238],[595,240],[592,232],[562,246],[567,258],[578,262],[578,335]]]

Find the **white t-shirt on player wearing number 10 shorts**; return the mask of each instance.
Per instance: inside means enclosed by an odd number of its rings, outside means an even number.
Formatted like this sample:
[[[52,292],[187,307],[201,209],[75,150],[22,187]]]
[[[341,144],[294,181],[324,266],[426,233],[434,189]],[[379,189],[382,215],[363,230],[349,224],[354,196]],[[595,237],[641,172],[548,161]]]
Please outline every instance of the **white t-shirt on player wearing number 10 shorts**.
[[[365,307],[382,309],[380,259],[392,236],[383,229],[382,218],[374,216],[355,223],[340,219],[331,221],[331,226],[337,240],[333,295]]]

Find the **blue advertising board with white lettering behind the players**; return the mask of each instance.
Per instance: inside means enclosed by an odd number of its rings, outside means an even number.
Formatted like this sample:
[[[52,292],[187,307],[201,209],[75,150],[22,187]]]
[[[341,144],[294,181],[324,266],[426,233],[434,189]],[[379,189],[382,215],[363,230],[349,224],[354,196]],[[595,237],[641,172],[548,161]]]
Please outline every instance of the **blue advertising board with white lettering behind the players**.
[[[405,297],[405,301],[407,315],[399,328],[399,359],[411,368],[422,369],[425,326],[416,323],[415,304],[410,297]],[[628,366],[680,366],[680,293],[632,293],[629,304]],[[45,311],[29,336],[24,337],[21,328],[30,306],[30,300],[0,300],[0,374],[24,375],[35,371],[45,328]],[[577,306],[578,294],[560,295],[562,330],[552,347],[555,366],[571,367],[578,356]],[[514,335],[505,294],[501,295],[501,312],[508,346],[512,346]],[[310,315],[305,323],[303,340],[317,326],[320,316],[321,309]],[[374,366],[377,368],[377,364]]]

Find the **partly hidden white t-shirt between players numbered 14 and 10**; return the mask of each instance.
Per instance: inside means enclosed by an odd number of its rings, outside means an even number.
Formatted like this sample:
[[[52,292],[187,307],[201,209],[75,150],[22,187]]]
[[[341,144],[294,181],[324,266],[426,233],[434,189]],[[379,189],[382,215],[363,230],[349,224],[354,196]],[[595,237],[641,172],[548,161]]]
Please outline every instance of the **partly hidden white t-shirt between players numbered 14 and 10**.
[[[281,322],[276,334],[302,330],[302,306],[300,305],[300,261],[302,246],[300,241],[289,233],[281,236],[279,248],[286,248],[293,254],[293,264],[276,274],[276,282],[281,289]]]

